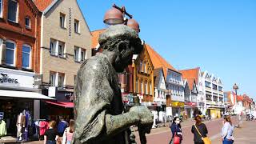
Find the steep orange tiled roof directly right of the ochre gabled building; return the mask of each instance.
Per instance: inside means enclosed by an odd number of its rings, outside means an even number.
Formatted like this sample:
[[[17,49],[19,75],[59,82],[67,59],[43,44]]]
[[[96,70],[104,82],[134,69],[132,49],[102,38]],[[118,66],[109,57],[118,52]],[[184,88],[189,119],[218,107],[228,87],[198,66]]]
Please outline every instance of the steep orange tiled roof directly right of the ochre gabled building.
[[[162,68],[165,78],[167,77],[167,69],[178,72],[178,70],[175,70],[174,67],[170,65],[170,63],[166,62],[164,58],[162,58],[156,51],[154,51],[154,49],[150,45],[146,44],[146,50],[150,54],[150,59],[153,63],[154,68]]]

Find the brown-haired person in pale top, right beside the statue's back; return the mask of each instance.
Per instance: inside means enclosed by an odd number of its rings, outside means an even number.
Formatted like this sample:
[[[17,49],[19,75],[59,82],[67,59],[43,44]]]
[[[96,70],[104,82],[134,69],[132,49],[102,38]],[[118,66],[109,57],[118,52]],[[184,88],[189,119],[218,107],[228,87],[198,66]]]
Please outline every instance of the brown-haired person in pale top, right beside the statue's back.
[[[70,119],[70,126],[66,128],[63,134],[62,144],[71,144],[74,134],[74,119]]]

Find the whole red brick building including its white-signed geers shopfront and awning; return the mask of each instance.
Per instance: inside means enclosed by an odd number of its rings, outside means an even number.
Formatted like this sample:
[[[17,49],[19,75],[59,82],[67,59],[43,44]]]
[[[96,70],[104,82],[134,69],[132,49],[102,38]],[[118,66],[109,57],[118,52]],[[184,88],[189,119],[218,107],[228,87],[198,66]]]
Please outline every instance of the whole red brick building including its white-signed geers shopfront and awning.
[[[18,114],[37,119],[40,100],[52,99],[38,89],[41,16],[33,0],[0,0],[0,111],[8,135],[17,134]]]

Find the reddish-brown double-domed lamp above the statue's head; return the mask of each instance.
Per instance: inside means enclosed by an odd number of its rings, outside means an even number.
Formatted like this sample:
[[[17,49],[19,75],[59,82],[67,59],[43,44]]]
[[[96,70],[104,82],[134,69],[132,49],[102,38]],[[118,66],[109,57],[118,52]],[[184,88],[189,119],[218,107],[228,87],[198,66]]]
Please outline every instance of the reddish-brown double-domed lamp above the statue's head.
[[[127,19],[125,16],[128,16],[130,19]],[[104,16],[104,23],[107,25],[118,25],[124,24],[134,29],[137,33],[140,32],[138,22],[133,19],[133,16],[126,12],[125,6],[118,7],[115,4],[110,10],[106,11]]]

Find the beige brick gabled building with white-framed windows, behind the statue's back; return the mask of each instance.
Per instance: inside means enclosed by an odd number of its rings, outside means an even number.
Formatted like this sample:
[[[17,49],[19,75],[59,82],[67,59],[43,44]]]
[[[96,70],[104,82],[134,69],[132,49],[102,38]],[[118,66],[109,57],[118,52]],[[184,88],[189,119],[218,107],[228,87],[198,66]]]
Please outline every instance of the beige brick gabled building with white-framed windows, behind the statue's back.
[[[70,102],[77,71],[92,55],[89,27],[76,0],[35,0],[34,3],[42,11],[42,94],[57,102]],[[53,102],[46,105],[60,106]]]

